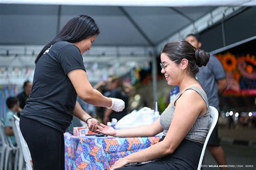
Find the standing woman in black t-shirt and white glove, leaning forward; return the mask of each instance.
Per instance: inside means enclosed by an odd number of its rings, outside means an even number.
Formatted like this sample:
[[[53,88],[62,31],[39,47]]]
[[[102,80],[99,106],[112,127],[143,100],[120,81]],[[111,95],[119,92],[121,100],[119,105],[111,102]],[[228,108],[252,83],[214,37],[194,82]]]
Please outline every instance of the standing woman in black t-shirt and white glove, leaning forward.
[[[65,169],[63,133],[73,116],[95,132],[98,120],[82,109],[77,96],[88,104],[116,112],[124,109],[123,100],[104,97],[93,89],[87,77],[82,55],[91,49],[97,35],[99,28],[93,18],[73,17],[35,60],[32,92],[19,126],[36,170]]]

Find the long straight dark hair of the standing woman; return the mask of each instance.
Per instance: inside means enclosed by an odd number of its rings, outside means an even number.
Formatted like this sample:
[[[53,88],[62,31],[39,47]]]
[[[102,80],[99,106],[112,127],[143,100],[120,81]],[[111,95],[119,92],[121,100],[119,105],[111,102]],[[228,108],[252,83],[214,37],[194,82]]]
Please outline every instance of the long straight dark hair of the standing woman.
[[[38,59],[43,55],[45,50],[49,49],[51,45],[56,42],[63,40],[70,43],[77,43],[91,36],[99,35],[99,33],[98,25],[95,23],[93,18],[86,15],[73,17],[63,26],[58,35],[53,38],[50,43],[43,47],[43,49],[39,52],[35,63],[37,63]]]

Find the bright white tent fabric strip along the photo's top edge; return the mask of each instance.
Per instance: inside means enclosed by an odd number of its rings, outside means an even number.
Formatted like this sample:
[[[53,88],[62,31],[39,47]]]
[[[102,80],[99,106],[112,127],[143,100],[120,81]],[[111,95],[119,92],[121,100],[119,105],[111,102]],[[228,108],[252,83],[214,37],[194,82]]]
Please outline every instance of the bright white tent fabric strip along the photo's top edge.
[[[158,1],[120,1],[120,0],[94,0],[94,1],[84,1],[84,0],[73,0],[73,1],[63,1],[63,0],[1,0],[2,3],[18,3],[18,4],[57,4],[57,5],[109,5],[109,6],[211,6],[211,5],[255,5],[254,0],[158,0]]]

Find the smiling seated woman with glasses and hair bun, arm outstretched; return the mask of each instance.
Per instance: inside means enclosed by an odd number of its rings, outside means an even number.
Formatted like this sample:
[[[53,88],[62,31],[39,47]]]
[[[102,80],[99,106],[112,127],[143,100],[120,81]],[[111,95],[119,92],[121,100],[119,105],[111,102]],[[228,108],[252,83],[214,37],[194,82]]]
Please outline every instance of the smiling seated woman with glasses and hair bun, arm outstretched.
[[[115,137],[154,136],[163,131],[160,141],[119,159],[112,169],[133,162],[151,161],[125,169],[197,169],[208,126],[210,109],[206,93],[196,79],[198,66],[206,65],[207,52],[194,49],[185,40],[168,43],[161,52],[161,73],[167,84],[178,85],[180,93],[152,125],[114,130],[100,124],[98,132]]]

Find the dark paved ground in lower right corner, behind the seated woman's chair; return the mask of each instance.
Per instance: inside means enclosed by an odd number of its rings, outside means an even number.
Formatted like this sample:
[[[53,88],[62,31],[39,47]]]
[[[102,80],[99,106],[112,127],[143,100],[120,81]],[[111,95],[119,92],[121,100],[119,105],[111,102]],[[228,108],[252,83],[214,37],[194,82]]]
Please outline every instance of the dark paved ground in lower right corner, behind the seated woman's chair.
[[[228,169],[256,170],[256,129],[219,127],[219,138],[224,149]],[[210,152],[206,151],[204,169],[220,169]],[[210,167],[211,166],[211,167]]]

